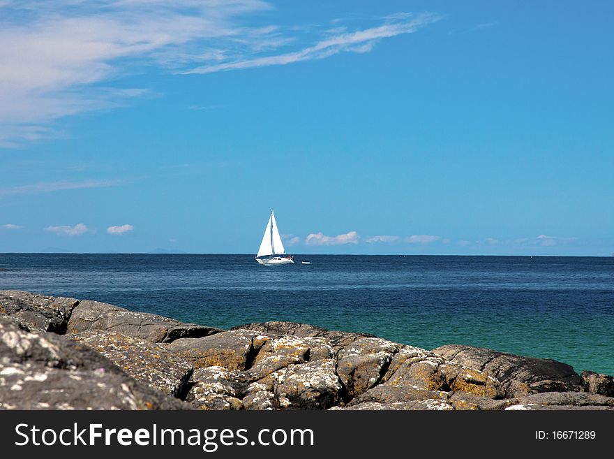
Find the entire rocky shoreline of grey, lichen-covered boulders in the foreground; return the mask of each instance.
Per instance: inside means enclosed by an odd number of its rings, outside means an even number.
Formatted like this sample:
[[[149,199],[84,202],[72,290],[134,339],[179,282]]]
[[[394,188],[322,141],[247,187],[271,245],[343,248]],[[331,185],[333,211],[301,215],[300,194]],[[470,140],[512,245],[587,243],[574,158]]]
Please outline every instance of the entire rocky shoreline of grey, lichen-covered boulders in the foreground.
[[[0,409],[614,409],[614,377],[303,323],[232,330],[0,291]]]

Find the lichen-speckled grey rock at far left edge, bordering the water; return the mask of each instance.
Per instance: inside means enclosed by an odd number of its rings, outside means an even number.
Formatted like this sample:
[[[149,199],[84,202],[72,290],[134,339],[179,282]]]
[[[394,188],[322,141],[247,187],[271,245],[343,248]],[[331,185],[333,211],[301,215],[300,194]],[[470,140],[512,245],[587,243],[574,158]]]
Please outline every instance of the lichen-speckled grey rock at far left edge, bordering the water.
[[[0,314],[10,316],[28,330],[66,333],[68,318],[79,303],[75,298],[37,295],[27,291],[0,291]]]

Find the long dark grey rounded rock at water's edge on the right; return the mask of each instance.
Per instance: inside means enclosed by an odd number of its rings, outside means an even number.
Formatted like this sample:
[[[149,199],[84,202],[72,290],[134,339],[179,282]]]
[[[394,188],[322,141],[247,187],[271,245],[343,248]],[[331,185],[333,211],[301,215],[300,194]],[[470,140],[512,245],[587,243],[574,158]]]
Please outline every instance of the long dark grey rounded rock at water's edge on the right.
[[[507,397],[546,391],[581,391],[582,379],[574,368],[556,360],[516,356],[480,347],[449,344],[433,349],[452,363],[495,377]]]

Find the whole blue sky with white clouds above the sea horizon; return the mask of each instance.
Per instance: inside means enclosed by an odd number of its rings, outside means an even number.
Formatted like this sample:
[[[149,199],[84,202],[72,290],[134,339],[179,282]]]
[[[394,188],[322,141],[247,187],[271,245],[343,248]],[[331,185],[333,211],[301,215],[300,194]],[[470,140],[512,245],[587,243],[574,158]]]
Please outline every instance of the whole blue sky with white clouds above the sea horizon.
[[[613,3],[0,0],[0,252],[614,252]]]

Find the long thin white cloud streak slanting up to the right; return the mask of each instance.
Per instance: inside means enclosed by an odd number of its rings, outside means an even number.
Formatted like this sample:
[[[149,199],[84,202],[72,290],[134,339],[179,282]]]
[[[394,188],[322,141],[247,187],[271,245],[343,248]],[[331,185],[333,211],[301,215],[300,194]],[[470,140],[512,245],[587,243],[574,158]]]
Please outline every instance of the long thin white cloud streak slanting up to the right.
[[[338,30],[338,34],[318,41],[314,45],[301,50],[273,54],[269,56],[236,59],[220,64],[207,64],[184,73],[214,73],[219,71],[237,70],[240,68],[253,68],[263,66],[277,66],[293,64],[294,62],[324,59],[340,52],[369,52],[377,41],[400,34],[411,34],[420,27],[438,20],[439,17],[430,14],[421,14],[403,17],[401,20],[391,19],[391,22],[377,27],[370,27],[352,32]]]

